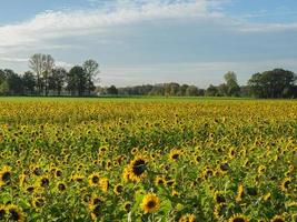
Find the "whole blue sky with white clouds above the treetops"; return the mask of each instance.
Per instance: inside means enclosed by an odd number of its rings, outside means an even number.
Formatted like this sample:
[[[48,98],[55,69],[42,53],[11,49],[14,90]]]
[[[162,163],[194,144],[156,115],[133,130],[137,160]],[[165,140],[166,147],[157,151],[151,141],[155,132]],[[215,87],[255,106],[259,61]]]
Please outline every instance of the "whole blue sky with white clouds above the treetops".
[[[0,68],[20,73],[50,53],[70,68],[92,58],[101,84],[176,81],[206,88],[229,70],[245,84],[297,72],[296,0],[10,0],[0,8]]]

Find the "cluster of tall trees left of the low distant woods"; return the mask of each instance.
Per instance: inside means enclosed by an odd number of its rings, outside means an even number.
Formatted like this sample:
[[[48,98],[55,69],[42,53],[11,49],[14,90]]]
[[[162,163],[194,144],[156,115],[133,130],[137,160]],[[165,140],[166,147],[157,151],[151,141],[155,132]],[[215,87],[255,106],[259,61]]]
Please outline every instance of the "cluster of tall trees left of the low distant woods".
[[[10,69],[0,69],[1,95],[91,95],[99,64],[87,60],[69,71],[55,64],[50,54],[33,54],[30,70],[22,75]]]

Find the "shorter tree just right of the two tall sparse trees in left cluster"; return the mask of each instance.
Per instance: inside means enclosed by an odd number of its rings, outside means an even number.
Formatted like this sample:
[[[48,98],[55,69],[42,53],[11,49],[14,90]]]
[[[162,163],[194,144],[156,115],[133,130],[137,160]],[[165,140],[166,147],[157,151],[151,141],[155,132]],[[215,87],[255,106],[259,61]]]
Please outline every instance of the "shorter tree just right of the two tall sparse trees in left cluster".
[[[55,68],[49,77],[49,90],[53,90],[58,95],[61,94],[67,78],[67,71],[63,68]]]

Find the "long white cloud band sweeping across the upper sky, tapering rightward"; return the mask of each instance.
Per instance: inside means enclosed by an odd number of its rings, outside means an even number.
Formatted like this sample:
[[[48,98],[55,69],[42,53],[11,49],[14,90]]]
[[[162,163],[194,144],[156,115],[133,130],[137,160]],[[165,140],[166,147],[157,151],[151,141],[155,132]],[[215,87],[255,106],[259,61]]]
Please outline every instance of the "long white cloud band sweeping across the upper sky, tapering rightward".
[[[220,6],[230,0],[118,0],[100,9],[46,11],[33,19],[0,27],[0,53],[30,48],[51,48],[51,40],[102,33],[109,27],[159,19],[210,19],[245,32],[297,29],[297,23],[258,24],[228,18]],[[92,3],[96,0],[91,0]],[[103,40],[102,40],[103,42]],[[49,46],[50,44],[50,46]],[[62,47],[62,46],[60,46]]]

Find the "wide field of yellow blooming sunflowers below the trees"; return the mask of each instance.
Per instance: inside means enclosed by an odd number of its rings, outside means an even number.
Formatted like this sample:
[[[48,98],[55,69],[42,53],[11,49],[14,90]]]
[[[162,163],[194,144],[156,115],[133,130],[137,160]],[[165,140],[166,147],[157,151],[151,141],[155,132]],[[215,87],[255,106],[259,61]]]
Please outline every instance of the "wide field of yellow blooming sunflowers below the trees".
[[[0,221],[297,221],[297,102],[0,99]]]

